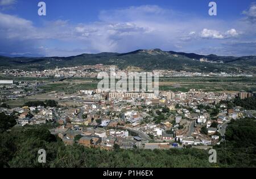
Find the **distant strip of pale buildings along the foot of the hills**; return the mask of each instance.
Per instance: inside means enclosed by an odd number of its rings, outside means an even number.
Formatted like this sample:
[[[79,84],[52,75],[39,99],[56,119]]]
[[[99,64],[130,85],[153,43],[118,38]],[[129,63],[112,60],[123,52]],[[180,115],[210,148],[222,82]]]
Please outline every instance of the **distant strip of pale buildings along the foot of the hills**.
[[[84,65],[74,67],[56,67],[55,69],[48,69],[42,71],[25,71],[20,69],[5,69],[0,71],[0,75],[4,76],[16,76],[16,77],[89,77],[97,78],[97,75],[101,71],[108,72],[111,68],[116,69],[117,73],[120,71],[117,66],[114,65]],[[138,69],[137,69],[138,70]],[[122,70],[127,72],[128,70]],[[246,74],[240,71],[240,73],[192,73],[187,71],[174,71],[174,70],[154,70],[153,73],[159,73],[160,77],[177,77],[177,76],[222,76],[222,77],[252,77],[254,74]]]

